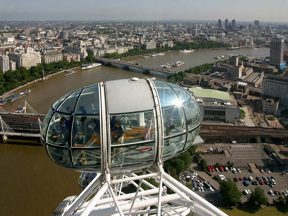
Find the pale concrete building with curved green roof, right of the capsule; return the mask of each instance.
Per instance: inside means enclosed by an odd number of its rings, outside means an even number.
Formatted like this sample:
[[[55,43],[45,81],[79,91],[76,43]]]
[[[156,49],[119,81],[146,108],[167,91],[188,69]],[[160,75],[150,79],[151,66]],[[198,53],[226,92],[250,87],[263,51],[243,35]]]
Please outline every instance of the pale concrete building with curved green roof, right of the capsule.
[[[229,93],[199,88],[190,88],[189,91],[195,95],[202,121],[233,123],[239,119],[239,107]]]

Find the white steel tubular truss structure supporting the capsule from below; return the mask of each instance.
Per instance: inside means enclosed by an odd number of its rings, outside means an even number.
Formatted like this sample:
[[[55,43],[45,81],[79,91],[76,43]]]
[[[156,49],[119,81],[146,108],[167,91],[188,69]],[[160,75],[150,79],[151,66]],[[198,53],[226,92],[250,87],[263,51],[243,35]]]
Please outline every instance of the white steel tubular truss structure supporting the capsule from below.
[[[146,171],[148,173],[146,174]],[[129,176],[128,176],[129,175]],[[147,182],[154,178],[158,187]],[[157,170],[147,168],[142,175],[127,172],[123,178],[113,179],[109,173],[99,173],[78,197],[66,198],[65,205],[53,215],[70,216],[228,216],[217,207],[191,191],[164,172],[162,165]],[[123,184],[133,184],[136,191],[125,194]],[[141,185],[146,184],[148,190]],[[167,187],[174,193],[167,194]]]

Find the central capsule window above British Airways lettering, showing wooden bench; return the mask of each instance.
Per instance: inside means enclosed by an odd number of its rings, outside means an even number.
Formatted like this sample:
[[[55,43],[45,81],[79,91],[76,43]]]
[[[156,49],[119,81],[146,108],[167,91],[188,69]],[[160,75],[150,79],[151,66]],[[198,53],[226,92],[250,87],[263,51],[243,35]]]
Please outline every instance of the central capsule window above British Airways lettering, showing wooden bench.
[[[153,111],[110,116],[111,145],[155,140]]]

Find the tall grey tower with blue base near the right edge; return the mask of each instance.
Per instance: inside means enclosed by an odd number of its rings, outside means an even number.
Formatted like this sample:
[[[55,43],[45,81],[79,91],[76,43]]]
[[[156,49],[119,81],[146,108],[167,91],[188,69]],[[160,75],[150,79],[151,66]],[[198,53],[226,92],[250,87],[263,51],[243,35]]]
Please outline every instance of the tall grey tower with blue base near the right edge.
[[[280,35],[272,38],[270,42],[270,64],[275,65],[276,68],[285,67],[285,63],[283,63],[284,46],[284,38],[281,38]]]

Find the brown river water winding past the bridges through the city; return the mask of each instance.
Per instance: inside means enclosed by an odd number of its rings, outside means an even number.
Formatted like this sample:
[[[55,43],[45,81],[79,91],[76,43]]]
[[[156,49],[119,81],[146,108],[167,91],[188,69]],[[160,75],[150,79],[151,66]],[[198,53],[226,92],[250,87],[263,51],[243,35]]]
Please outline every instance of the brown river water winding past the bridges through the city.
[[[191,53],[170,52],[165,55],[144,59],[142,56],[122,59],[122,61],[137,62],[147,66],[159,67],[165,63],[184,61],[184,65],[173,67],[181,71],[204,63],[212,63],[219,59],[215,56],[226,54],[244,55],[247,57],[269,56],[269,48],[241,48],[239,50],[203,50]],[[226,57],[226,56],[225,56]],[[226,57],[228,59],[228,57]],[[44,82],[35,82],[26,86],[31,93],[16,100],[12,108],[27,102],[39,113],[46,113],[48,108],[61,96],[101,81],[143,78],[147,75],[120,70],[112,67],[99,66],[80,70],[78,73],[64,77],[64,73],[51,76]],[[157,78],[157,80],[164,80]],[[121,88],[121,86],[119,86]],[[21,92],[25,89],[19,89]],[[3,106],[6,111],[11,103]],[[5,143],[0,144],[1,163],[1,212],[3,215],[41,215],[50,216],[59,203],[67,196],[78,195],[81,189],[78,185],[80,172],[64,169],[53,163],[47,156],[43,146]]]

